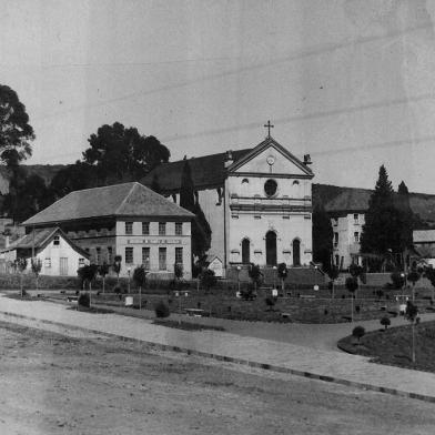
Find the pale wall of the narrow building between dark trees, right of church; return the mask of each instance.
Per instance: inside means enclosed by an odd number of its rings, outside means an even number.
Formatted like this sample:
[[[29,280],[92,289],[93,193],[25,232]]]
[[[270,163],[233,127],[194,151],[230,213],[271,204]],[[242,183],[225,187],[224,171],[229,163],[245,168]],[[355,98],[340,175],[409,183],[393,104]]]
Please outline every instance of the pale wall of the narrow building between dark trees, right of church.
[[[361,262],[361,234],[365,223],[363,213],[347,213],[331,219],[333,236],[333,263],[347,269],[352,263]]]

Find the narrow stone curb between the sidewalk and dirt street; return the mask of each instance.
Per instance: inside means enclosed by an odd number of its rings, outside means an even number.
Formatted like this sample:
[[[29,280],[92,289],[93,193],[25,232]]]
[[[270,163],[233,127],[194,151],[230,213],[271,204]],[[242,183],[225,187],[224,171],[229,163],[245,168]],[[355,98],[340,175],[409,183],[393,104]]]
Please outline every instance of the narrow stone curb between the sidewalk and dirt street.
[[[22,314],[9,313],[9,312],[4,312],[4,311],[0,311],[0,313],[4,314],[7,316],[10,316],[10,317],[26,318],[26,320],[31,320],[31,321],[36,321],[36,322],[45,323],[45,324],[49,324],[49,325],[68,327],[70,330],[84,331],[84,332],[89,332],[89,333],[93,333],[93,334],[103,335],[103,336],[107,336],[107,337],[114,337],[114,338],[119,338],[119,340],[122,340],[122,341],[142,343],[142,344],[148,345],[151,348],[155,348],[155,350],[159,350],[159,351],[171,351],[171,352],[184,353],[184,354],[188,354],[188,355],[195,355],[195,356],[201,356],[201,357],[205,357],[205,358],[222,361],[222,362],[226,362],[226,363],[234,363],[234,364],[240,364],[240,365],[246,365],[246,366],[254,367],[254,368],[269,370],[269,371],[276,372],[276,373],[286,373],[286,374],[291,374],[291,375],[295,375],[295,376],[307,377],[310,380],[316,380],[316,381],[330,382],[330,383],[334,383],[334,384],[338,384],[338,385],[352,386],[352,387],[355,387],[355,388],[365,390],[365,391],[373,391],[373,392],[376,392],[376,393],[384,393],[384,394],[390,394],[390,395],[399,396],[399,397],[407,397],[407,398],[414,398],[414,399],[417,399],[417,401],[435,403],[435,396],[428,396],[428,395],[425,395],[425,394],[411,393],[411,392],[406,392],[406,391],[402,391],[402,390],[397,390],[397,388],[390,388],[390,387],[383,387],[383,386],[373,385],[373,384],[366,384],[366,383],[363,383],[363,382],[348,381],[348,380],[341,378],[341,377],[320,375],[320,374],[316,374],[316,373],[304,372],[304,371],[300,371],[300,370],[296,370],[296,368],[289,368],[289,367],[282,367],[282,366],[273,365],[273,364],[259,363],[259,362],[255,362],[255,361],[237,358],[237,357],[233,357],[233,356],[212,354],[212,353],[209,353],[209,352],[195,351],[195,350],[191,350],[191,348],[186,348],[186,347],[173,346],[173,345],[170,345],[170,344],[149,342],[146,340],[139,340],[139,338],[128,337],[128,336],[124,336],[124,335],[118,335],[118,334],[113,334],[113,333],[109,333],[109,332],[91,330],[91,328],[87,328],[87,327],[82,327],[82,326],[69,325],[69,324],[65,324],[65,323],[48,321],[48,320],[44,320],[44,318],[41,320],[41,318],[31,317],[31,316],[27,316],[27,315],[22,315]]]

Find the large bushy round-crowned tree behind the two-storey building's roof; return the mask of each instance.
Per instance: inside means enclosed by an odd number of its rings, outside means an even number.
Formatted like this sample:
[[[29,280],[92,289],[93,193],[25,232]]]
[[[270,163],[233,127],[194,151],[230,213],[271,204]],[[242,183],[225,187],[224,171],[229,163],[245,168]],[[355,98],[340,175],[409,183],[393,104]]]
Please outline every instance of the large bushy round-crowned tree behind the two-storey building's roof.
[[[115,183],[141,178],[171,155],[155,136],[144,136],[120,122],[100,127],[88,140],[83,161],[97,168],[100,182]]]

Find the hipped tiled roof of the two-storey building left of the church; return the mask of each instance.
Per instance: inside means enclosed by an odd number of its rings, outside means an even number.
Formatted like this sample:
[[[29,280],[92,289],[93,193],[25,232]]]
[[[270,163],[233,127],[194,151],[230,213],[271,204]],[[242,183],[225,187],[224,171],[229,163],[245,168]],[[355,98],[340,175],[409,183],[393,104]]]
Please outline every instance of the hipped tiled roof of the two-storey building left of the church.
[[[55,223],[100,216],[174,216],[193,214],[144,185],[131,182],[69,193],[22,224]]]

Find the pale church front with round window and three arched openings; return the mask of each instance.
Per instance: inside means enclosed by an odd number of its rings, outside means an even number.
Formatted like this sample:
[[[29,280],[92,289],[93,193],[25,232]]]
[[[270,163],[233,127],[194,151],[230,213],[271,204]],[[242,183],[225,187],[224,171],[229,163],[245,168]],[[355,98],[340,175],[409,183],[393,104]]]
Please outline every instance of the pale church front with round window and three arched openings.
[[[312,176],[273,140],[229,168],[224,191],[230,265],[310,264]]]

